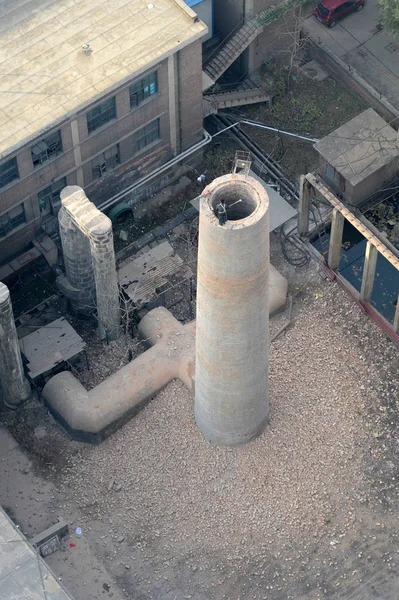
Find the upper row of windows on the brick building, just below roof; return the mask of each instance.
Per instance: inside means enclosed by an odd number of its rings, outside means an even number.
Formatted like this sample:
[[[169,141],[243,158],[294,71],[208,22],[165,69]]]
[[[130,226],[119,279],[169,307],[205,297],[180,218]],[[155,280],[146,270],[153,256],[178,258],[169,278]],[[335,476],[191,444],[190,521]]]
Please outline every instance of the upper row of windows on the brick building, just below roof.
[[[150,73],[129,88],[130,108],[140,106],[145,100],[158,92],[158,74]],[[87,130],[90,133],[99,129],[106,123],[116,119],[115,97],[108,98],[86,113]],[[58,130],[43,138],[32,146],[31,156],[34,167],[38,167],[62,152],[61,131]],[[101,177],[101,175],[100,175]],[[17,159],[11,158],[0,165],[0,188],[19,178]]]

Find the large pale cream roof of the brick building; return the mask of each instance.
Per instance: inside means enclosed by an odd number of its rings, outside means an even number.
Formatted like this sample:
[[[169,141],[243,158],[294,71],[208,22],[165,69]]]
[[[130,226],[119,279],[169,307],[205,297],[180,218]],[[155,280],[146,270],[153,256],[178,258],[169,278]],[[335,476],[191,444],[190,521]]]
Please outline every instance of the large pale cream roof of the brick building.
[[[206,31],[183,0],[0,0],[0,158]]]

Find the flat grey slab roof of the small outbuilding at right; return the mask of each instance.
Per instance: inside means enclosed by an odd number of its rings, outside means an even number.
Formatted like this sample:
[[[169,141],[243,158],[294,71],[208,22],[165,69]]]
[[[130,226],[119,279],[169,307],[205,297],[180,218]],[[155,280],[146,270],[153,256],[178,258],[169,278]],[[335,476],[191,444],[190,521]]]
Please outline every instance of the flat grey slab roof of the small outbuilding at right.
[[[314,145],[347,181],[356,185],[399,156],[398,134],[372,108]]]

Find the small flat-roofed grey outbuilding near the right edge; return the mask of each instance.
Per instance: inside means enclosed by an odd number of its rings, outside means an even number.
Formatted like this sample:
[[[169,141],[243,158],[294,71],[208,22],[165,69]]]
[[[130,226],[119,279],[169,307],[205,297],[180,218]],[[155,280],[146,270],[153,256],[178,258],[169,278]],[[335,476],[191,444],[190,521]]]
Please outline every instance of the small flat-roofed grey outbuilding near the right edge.
[[[399,137],[369,108],[314,145],[319,173],[348,204],[361,204],[399,174]]]

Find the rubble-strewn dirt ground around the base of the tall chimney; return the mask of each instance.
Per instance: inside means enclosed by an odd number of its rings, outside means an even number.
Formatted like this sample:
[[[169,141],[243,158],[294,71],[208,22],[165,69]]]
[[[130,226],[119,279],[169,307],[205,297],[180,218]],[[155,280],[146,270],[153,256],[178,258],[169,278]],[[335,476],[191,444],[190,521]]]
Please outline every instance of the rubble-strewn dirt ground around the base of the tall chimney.
[[[0,461],[0,503],[28,536],[68,520],[47,560],[76,600],[398,598],[397,347],[274,235],[272,262],[292,322],[271,344],[270,423],[247,446],[208,444],[179,382],[100,446],[37,400],[3,409],[20,449]],[[98,344],[94,383],[125,342]]]

